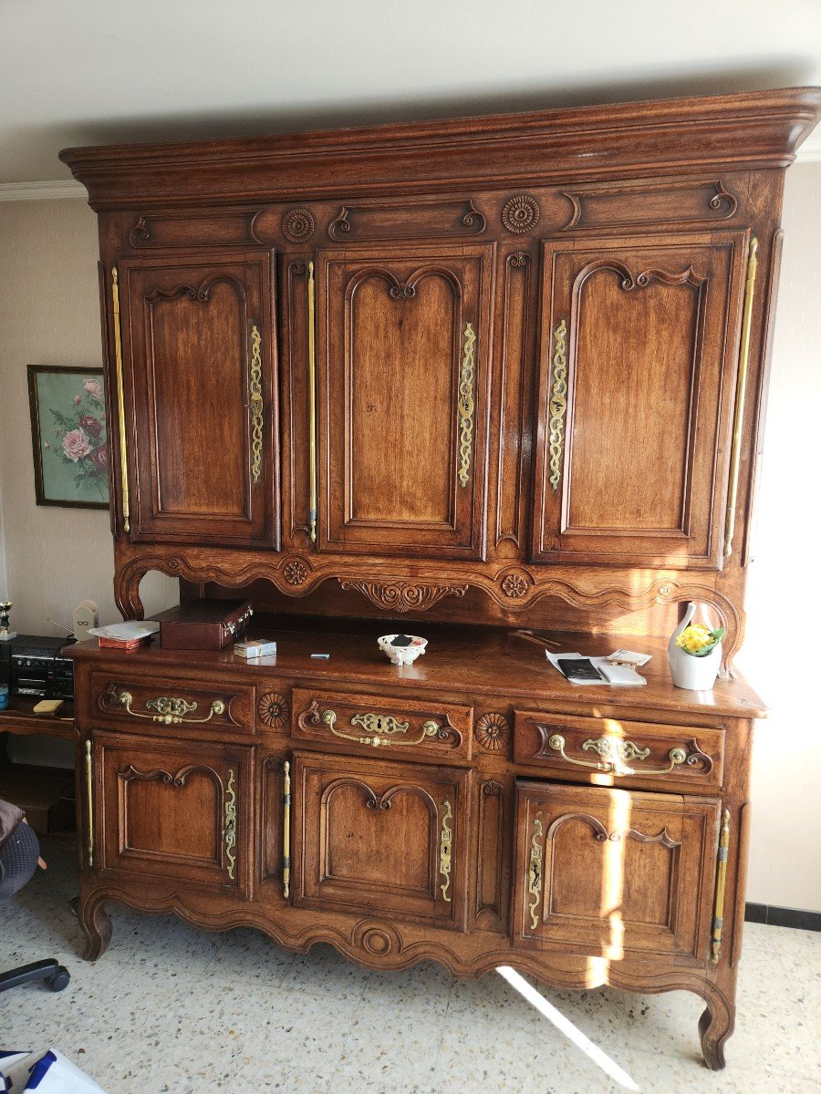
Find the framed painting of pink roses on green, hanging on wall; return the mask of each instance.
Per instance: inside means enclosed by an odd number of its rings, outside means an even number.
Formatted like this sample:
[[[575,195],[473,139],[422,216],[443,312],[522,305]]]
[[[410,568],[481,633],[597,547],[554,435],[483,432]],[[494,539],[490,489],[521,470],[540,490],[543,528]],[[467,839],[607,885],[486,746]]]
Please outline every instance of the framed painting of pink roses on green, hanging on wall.
[[[38,505],[108,508],[102,369],[28,365]]]

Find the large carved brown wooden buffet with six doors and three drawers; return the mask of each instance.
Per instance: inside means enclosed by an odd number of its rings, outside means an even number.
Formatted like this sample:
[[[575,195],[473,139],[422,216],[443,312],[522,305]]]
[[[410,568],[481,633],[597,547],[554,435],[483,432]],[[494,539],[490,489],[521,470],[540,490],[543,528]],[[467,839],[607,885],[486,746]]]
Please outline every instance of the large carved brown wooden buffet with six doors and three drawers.
[[[120,900],[380,967],[686,988],[722,1066],[763,713],[732,659],[820,109],[62,153],[100,219],[120,609],[161,570],[279,642],[72,650],[90,957]],[[727,629],[712,693],[667,667],[690,600]],[[574,688],[522,626],[652,649],[648,686]],[[430,639],[412,667],[396,629]]]

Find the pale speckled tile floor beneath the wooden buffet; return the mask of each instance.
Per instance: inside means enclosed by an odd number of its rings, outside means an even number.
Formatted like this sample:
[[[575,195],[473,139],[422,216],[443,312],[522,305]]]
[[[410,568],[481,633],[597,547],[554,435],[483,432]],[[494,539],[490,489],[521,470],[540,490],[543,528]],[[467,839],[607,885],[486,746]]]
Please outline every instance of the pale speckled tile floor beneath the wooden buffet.
[[[73,851],[0,904],[0,969],[57,957],[61,993],[0,993],[0,1048],[59,1049],[108,1094],[811,1094],[821,1092],[821,934],[747,924],[737,1031],[701,1062],[701,1000],[610,989],[542,994],[629,1076],[620,1084],[501,976],[433,964],[372,973],[253,930],[211,934],[114,908],[105,956],[78,957]]]

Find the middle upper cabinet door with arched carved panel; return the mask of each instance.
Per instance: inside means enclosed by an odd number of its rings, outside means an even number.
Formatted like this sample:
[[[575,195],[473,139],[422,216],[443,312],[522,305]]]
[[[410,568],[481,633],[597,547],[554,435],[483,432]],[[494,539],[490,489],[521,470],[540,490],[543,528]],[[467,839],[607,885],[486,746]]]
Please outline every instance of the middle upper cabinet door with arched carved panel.
[[[320,549],[483,557],[493,253],[319,256]]]

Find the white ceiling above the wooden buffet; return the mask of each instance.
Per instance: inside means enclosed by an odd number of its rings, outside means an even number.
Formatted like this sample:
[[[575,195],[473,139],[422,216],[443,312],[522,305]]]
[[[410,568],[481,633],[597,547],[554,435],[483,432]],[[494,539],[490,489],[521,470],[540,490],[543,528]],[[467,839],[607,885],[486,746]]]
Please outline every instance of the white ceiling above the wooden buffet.
[[[821,0],[0,0],[0,184],[77,144],[807,83]]]

